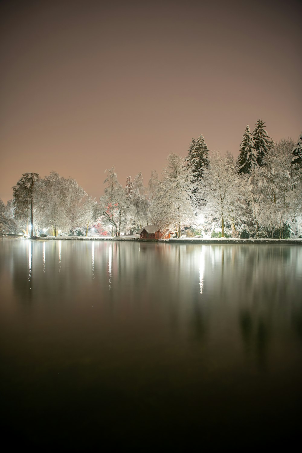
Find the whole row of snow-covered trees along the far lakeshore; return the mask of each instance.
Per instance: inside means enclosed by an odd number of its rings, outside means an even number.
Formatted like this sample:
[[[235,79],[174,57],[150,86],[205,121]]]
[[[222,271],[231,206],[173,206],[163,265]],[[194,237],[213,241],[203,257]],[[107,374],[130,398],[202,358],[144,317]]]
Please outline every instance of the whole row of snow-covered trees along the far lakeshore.
[[[120,236],[156,225],[178,236],[302,237],[302,135],[274,142],[264,126],[246,126],[236,160],[192,139],[187,157],[169,154],[147,186],[139,173],[123,187],[107,169],[99,201],[58,173],[24,173],[13,200],[0,203],[1,232]]]

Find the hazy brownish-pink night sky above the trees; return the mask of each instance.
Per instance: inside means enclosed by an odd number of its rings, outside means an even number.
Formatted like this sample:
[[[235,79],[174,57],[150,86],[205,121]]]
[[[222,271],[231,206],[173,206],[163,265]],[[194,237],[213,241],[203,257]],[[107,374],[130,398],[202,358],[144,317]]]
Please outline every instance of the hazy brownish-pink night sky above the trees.
[[[302,130],[300,1],[2,1],[0,198],[57,171],[92,197],[115,165],[148,185],[202,134],[239,154],[258,118]]]

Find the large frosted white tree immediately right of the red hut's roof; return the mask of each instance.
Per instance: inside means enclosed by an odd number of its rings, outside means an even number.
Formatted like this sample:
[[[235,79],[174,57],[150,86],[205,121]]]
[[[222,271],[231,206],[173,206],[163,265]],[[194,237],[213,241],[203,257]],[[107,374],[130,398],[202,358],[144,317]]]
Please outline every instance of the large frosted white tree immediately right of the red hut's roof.
[[[163,170],[162,181],[158,183],[153,205],[152,223],[161,231],[178,231],[189,226],[194,217],[191,206],[192,169],[186,166],[185,159],[177,154],[168,155],[168,165]]]

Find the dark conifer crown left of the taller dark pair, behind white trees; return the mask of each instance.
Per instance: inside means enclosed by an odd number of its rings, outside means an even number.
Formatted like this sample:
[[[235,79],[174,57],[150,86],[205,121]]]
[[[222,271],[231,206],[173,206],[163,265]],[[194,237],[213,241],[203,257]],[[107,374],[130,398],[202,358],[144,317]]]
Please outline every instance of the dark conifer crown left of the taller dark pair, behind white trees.
[[[198,185],[199,181],[201,180],[204,169],[208,168],[209,166],[209,149],[205,143],[205,139],[203,138],[203,135],[201,134],[198,139],[195,140],[192,139],[192,142],[190,144],[189,148],[189,154],[187,157],[187,162],[188,165],[192,169],[193,173],[193,180],[192,183],[195,183]]]

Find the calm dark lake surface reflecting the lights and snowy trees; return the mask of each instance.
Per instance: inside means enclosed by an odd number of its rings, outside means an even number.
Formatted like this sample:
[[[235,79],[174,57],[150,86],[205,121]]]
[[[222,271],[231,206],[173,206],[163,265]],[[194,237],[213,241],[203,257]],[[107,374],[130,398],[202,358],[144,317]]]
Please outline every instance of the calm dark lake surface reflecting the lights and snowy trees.
[[[246,449],[300,432],[300,246],[5,240],[0,287],[11,445]]]

